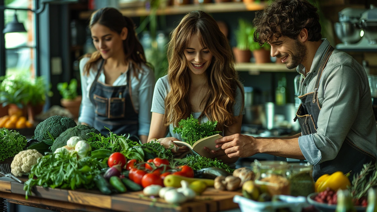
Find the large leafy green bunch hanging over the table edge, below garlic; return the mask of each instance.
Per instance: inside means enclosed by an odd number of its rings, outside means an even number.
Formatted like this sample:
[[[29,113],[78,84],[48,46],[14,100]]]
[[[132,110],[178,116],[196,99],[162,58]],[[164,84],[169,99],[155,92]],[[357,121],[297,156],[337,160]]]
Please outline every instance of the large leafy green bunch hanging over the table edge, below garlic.
[[[31,194],[33,186],[43,186],[61,189],[77,189],[84,187],[92,189],[95,186],[93,178],[100,173],[105,164],[95,158],[77,158],[77,153],[48,154],[38,158],[30,171],[29,180],[25,182],[26,199]],[[37,179],[34,179],[34,176]]]

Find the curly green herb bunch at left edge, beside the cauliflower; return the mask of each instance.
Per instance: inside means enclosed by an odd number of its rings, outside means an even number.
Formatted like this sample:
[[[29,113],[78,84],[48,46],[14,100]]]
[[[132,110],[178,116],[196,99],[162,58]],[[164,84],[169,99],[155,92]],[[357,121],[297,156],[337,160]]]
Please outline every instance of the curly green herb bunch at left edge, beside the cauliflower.
[[[0,161],[13,157],[26,146],[26,137],[14,130],[0,129]]]

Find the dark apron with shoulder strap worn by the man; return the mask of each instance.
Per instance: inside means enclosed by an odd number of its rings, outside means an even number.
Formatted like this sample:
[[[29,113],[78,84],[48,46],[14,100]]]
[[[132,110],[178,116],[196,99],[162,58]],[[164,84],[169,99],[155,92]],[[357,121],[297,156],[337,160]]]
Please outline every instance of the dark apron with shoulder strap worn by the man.
[[[294,120],[299,120],[302,135],[309,135],[317,132],[317,120],[321,110],[317,97],[319,80],[333,50],[334,48],[332,46],[329,46],[327,49],[325,58],[323,58],[322,64],[317,73],[314,92],[299,97],[302,103],[297,110],[296,118]],[[369,163],[370,161],[375,161],[375,157],[357,147],[348,137],[346,137],[334,160],[325,161],[314,166],[313,179],[314,181],[317,181],[317,179],[323,174],[333,174],[336,171],[342,171],[344,174],[351,172],[349,179],[352,181],[353,175],[359,173],[363,168],[363,164]]]

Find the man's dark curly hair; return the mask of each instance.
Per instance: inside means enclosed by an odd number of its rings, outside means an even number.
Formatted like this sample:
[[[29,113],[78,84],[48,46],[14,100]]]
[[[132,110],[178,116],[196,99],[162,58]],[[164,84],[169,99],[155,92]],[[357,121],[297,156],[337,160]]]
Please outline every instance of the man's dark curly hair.
[[[297,39],[304,28],[309,41],[319,41],[322,35],[317,10],[307,0],[277,0],[256,13],[254,41],[262,46],[275,37]]]

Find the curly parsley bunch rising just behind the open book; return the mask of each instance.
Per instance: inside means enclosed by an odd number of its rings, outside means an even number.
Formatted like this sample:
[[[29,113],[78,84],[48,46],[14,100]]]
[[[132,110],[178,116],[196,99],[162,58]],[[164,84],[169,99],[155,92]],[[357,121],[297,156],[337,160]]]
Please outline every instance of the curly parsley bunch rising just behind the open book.
[[[218,134],[215,131],[217,121],[207,121],[200,124],[199,120],[190,115],[187,119],[178,122],[178,127],[173,129],[174,133],[180,133],[182,141],[189,143],[191,146],[198,140]]]

